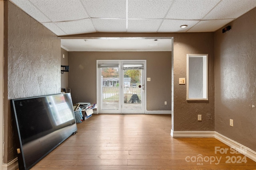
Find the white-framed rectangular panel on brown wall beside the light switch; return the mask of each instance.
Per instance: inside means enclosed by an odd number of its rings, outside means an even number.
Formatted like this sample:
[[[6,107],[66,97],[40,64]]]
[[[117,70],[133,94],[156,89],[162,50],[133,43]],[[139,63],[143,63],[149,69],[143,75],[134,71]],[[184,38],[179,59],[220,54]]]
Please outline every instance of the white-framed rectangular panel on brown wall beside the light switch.
[[[187,100],[208,100],[208,54],[187,55]]]

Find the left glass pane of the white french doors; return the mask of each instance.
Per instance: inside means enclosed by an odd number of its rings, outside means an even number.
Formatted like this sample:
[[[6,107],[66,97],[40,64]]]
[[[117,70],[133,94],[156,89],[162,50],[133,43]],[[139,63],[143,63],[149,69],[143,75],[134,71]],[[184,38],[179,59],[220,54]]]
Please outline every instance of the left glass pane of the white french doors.
[[[119,109],[119,69],[101,68],[101,109]]]

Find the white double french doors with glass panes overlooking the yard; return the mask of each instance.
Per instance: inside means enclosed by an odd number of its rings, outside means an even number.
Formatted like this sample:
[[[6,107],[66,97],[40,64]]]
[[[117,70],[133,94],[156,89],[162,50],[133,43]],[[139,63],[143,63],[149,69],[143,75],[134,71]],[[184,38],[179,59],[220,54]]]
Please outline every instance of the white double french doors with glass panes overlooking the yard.
[[[145,60],[98,60],[98,113],[145,113]]]

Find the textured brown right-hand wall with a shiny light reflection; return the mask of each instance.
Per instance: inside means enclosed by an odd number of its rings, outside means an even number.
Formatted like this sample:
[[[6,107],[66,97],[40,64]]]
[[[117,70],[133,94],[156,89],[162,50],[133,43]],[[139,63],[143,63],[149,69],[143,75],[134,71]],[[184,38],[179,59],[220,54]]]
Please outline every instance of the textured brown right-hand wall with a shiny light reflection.
[[[228,25],[214,33],[215,130],[256,151],[256,8]]]

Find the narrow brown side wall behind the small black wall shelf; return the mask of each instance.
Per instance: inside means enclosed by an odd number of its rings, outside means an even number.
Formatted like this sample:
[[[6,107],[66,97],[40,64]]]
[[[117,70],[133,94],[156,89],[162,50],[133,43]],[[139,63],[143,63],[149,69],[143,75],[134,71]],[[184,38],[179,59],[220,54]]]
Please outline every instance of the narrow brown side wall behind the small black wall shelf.
[[[64,55],[64,58],[63,58]],[[61,48],[60,52],[60,63],[61,65],[67,66],[68,65],[68,51]],[[64,72],[60,75],[60,86],[61,88],[68,88],[68,72]]]

